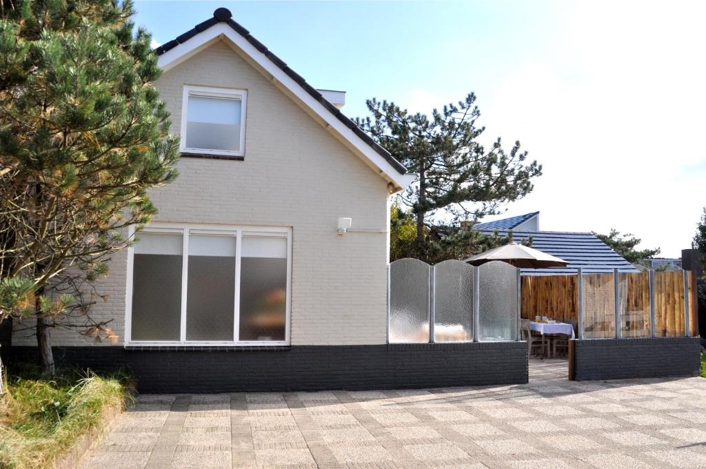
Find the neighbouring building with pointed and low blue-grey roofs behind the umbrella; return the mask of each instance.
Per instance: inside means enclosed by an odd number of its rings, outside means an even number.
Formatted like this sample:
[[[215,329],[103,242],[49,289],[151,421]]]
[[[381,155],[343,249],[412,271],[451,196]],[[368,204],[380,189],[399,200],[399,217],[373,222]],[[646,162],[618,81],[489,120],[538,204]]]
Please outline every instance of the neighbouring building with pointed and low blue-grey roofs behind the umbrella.
[[[503,236],[507,236],[511,231],[513,239],[517,242],[531,238],[534,249],[569,263],[566,268],[522,269],[522,275],[575,274],[578,268],[582,268],[584,273],[611,273],[616,268],[621,273],[639,272],[592,233],[540,231],[539,212],[479,223],[473,227],[474,230],[486,234],[498,232]]]

